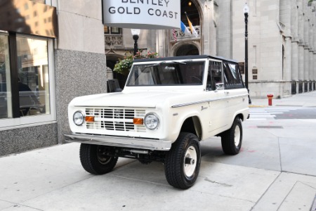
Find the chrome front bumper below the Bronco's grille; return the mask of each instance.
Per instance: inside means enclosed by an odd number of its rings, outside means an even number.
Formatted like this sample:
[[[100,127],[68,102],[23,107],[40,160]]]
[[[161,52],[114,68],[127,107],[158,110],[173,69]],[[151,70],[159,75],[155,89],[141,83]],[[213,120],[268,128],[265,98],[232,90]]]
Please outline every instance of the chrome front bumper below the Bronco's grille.
[[[118,146],[125,148],[141,148],[152,151],[169,151],[171,141],[157,139],[136,139],[121,136],[100,136],[88,134],[64,134],[65,141],[91,143],[105,146]]]

